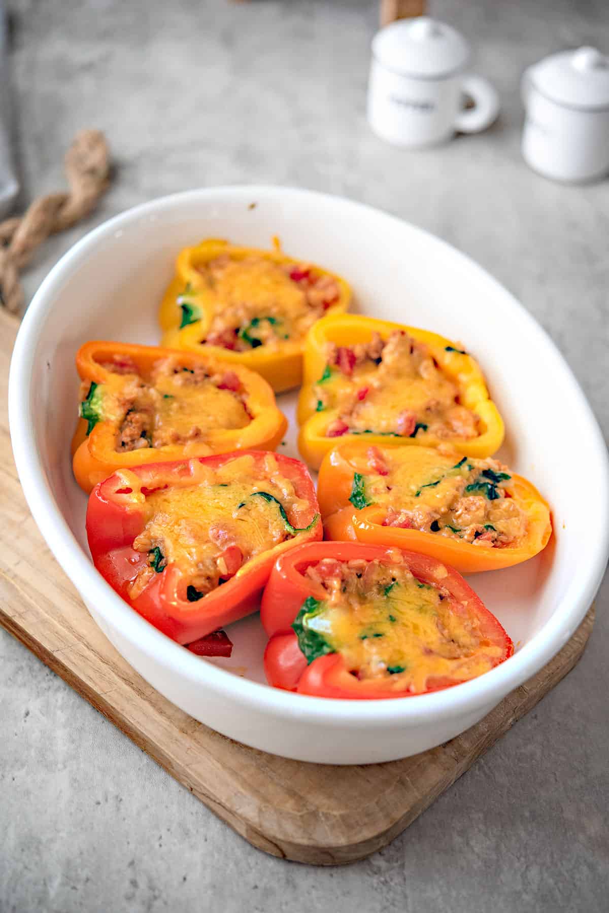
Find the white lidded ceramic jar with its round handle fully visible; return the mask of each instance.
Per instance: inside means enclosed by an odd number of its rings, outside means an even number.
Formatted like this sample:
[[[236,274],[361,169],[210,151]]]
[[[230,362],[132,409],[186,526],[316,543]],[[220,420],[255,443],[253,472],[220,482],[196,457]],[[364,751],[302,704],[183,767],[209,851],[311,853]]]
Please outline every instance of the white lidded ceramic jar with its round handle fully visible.
[[[428,16],[402,19],[373,38],[368,121],[383,140],[427,146],[456,131],[484,130],[499,111],[486,79],[464,73],[469,45],[455,28]],[[474,106],[464,109],[464,96]]]

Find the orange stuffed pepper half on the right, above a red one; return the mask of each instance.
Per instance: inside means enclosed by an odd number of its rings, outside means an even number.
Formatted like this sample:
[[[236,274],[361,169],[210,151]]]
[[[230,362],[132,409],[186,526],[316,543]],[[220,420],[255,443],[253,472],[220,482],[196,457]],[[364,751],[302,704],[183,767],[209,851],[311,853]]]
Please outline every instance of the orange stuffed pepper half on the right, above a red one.
[[[321,464],[318,497],[327,538],[418,551],[462,573],[520,564],[551,537],[526,478],[447,447],[341,443]]]

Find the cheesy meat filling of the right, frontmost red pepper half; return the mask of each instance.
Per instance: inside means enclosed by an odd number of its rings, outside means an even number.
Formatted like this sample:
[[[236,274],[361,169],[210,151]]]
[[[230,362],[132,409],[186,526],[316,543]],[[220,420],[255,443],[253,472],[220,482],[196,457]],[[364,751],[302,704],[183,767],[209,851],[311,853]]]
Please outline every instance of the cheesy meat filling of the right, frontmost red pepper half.
[[[438,572],[446,576],[442,565]],[[324,559],[306,576],[327,593],[325,600],[304,603],[294,624],[309,662],[340,653],[358,678],[386,679],[415,693],[435,677],[475,677],[500,653],[474,615],[451,608],[441,580],[419,581],[398,550],[386,561]]]

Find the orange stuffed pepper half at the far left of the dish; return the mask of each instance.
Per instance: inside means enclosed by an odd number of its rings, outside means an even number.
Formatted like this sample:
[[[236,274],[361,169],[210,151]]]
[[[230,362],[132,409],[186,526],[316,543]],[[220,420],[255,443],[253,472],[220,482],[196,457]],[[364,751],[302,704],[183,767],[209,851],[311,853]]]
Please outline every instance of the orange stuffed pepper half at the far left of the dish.
[[[288,425],[262,377],[205,352],[93,341],[79,349],[76,365],[73,468],[88,492],[116,469],[273,450]]]

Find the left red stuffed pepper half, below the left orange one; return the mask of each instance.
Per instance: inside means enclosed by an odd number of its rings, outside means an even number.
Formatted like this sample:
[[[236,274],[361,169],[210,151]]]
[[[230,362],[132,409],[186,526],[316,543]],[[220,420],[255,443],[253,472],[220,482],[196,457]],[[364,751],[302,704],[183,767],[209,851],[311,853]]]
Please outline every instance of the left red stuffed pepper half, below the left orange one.
[[[110,586],[192,644],[256,611],[274,562],[322,527],[303,463],[239,451],[117,470],[90,494],[87,536]]]

